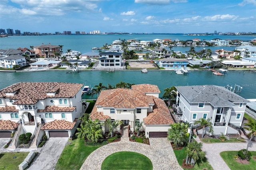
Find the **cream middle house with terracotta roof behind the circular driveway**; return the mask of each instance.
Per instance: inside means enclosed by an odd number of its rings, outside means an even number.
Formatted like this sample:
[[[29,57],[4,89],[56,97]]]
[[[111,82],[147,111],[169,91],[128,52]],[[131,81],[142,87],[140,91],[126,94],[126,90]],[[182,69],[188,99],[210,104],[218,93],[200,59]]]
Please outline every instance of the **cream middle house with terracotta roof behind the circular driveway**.
[[[90,118],[104,123],[122,120],[134,132],[136,124],[142,123],[146,137],[166,137],[170,124],[174,123],[164,101],[159,99],[156,85],[132,85],[132,89],[110,89],[101,91]],[[120,128],[120,127],[119,127]],[[108,132],[106,123],[103,132]]]

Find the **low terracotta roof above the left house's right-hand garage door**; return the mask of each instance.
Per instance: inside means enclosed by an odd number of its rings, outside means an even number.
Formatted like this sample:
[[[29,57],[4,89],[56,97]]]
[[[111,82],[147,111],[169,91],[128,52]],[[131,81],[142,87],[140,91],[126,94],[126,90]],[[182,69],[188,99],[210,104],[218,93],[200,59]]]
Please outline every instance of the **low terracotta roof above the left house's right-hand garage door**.
[[[69,130],[74,128],[77,119],[74,122],[68,122],[65,120],[54,120],[44,124],[42,130]]]

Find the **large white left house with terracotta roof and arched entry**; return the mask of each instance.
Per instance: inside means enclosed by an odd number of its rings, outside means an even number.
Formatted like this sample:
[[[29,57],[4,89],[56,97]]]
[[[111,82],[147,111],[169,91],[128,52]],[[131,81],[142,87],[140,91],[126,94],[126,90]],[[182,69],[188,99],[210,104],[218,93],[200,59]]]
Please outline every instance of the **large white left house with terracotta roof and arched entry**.
[[[48,138],[73,135],[85,110],[82,87],[80,83],[26,82],[0,90],[0,133],[10,137],[17,129],[21,134],[31,132],[39,141],[43,134]]]

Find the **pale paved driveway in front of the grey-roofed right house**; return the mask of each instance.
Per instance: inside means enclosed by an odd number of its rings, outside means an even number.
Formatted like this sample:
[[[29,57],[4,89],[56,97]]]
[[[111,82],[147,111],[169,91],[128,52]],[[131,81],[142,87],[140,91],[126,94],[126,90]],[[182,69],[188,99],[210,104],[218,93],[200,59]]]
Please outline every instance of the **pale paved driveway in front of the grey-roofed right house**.
[[[201,142],[198,136],[196,137],[196,141]],[[206,158],[214,170],[230,170],[226,162],[220,156],[220,152],[246,149],[247,144],[248,140],[245,143],[203,143],[202,150],[206,152]],[[256,151],[256,142],[251,142],[248,150]]]

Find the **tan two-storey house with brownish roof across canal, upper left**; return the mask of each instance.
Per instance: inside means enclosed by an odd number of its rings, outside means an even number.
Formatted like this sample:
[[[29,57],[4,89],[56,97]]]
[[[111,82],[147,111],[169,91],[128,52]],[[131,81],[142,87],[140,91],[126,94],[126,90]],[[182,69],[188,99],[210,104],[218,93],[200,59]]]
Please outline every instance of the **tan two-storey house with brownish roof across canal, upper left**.
[[[42,43],[42,45],[35,46],[34,51],[40,57],[50,58],[54,57],[54,52],[60,52],[60,46]]]

